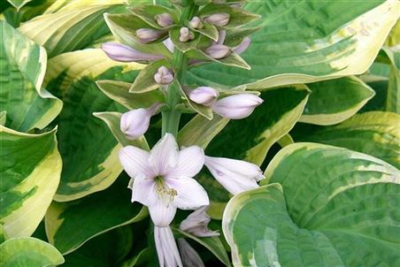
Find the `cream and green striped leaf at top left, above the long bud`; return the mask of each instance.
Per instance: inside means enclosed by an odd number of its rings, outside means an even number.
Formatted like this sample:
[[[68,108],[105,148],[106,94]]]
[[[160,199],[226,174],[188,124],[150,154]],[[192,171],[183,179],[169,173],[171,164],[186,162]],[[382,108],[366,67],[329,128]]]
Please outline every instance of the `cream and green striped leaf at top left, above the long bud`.
[[[105,25],[105,11],[123,10],[123,1],[113,3],[87,4],[86,1],[73,1],[73,6],[66,5],[54,12],[31,19],[19,27],[22,34],[42,45],[49,57],[81,50],[96,39],[109,34]]]

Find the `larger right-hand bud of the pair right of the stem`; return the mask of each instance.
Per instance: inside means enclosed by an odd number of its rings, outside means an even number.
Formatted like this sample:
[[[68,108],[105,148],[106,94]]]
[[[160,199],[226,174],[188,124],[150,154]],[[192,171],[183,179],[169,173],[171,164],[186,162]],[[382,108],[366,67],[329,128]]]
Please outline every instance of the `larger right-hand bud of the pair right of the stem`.
[[[264,100],[257,95],[246,93],[230,95],[213,103],[212,111],[225,118],[246,118],[263,102]]]

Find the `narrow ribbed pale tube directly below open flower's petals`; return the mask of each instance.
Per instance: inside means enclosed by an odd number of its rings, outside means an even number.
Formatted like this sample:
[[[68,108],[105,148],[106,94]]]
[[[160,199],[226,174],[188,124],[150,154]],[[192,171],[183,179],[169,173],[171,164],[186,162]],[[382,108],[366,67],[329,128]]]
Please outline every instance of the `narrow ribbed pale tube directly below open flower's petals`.
[[[183,267],[178,247],[169,226],[154,227],[158,263],[160,267]]]

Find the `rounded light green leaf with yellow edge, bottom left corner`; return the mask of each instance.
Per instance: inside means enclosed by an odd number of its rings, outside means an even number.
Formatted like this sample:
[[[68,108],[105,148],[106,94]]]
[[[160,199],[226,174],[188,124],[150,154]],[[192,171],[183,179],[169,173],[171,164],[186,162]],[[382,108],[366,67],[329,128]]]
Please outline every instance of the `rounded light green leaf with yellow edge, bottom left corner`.
[[[62,263],[64,258],[56,248],[33,237],[13,238],[0,245],[2,267],[45,267]]]

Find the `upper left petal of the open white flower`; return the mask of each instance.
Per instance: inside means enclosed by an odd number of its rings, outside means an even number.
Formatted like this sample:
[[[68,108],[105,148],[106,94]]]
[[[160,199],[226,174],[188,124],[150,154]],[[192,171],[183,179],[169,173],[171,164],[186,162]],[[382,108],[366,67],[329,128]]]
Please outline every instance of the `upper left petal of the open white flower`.
[[[119,150],[119,161],[125,172],[132,178],[140,174],[145,177],[152,177],[149,158],[149,152],[133,146],[127,146]]]

